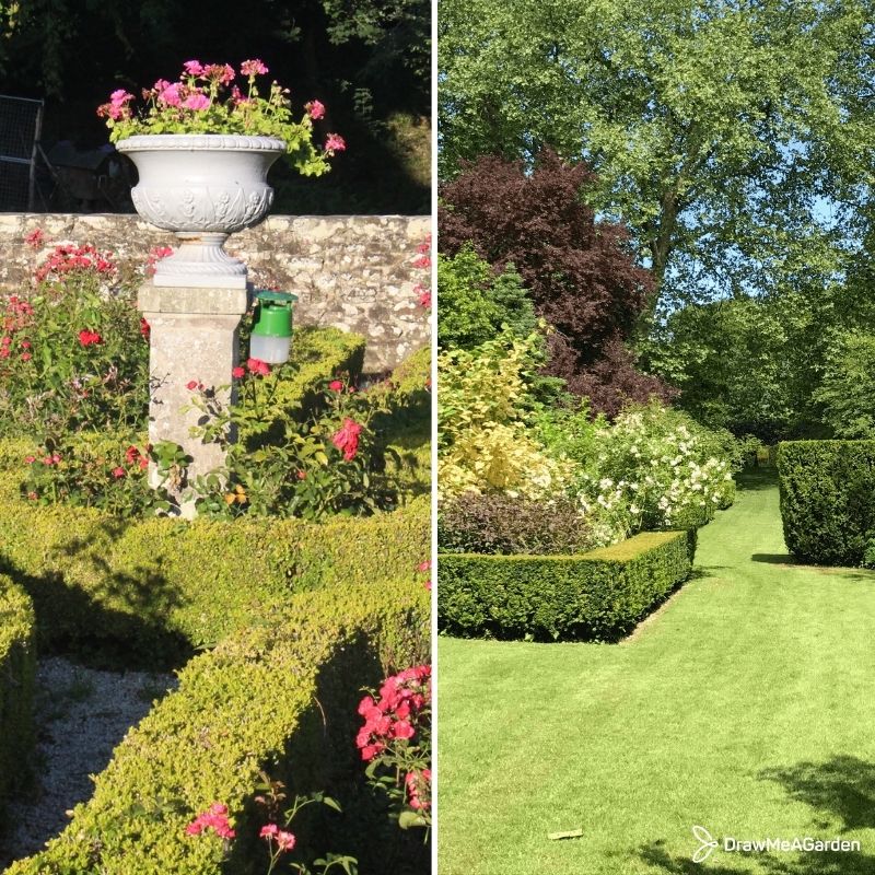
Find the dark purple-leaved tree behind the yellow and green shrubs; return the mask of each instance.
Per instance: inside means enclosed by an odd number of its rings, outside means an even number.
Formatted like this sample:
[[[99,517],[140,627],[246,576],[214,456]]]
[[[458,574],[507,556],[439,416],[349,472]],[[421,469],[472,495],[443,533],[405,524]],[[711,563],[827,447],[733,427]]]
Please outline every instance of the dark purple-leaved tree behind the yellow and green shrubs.
[[[634,369],[623,346],[651,288],[625,229],[596,222],[582,190],[594,177],[545,150],[533,173],[522,162],[481,158],[441,189],[439,245],[455,255],[467,243],[499,270],[518,271],[538,314],[556,330],[549,373],[586,395],[595,411],[627,399],[665,397],[665,386]]]

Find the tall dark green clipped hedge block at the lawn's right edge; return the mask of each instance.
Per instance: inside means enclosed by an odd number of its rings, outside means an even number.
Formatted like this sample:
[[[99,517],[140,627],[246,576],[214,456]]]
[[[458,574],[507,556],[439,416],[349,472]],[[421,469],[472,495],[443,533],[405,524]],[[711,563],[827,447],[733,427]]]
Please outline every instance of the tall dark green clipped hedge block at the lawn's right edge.
[[[875,441],[790,441],[778,446],[788,549],[824,565],[859,565],[875,537]]]

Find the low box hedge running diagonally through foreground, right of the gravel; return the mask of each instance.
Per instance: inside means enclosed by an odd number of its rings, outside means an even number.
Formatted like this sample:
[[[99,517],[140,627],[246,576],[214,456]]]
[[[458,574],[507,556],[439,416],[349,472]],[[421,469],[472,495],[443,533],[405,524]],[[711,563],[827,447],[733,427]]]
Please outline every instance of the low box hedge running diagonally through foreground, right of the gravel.
[[[241,586],[248,582],[242,575]],[[385,575],[305,593],[194,658],[178,689],[116,748],[67,829],[7,874],[250,875],[255,845],[264,845],[253,798],[259,770],[285,781],[291,795],[325,790],[346,801],[350,775],[362,772],[360,689],[428,660],[428,600],[421,584]],[[185,833],[214,802],[229,806],[237,832],[225,863],[222,840]],[[342,826],[319,837],[329,842],[319,850],[366,853],[354,814],[345,804]],[[295,822],[294,831],[307,842],[305,828]],[[363,862],[363,872],[381,871],[378,861]]]

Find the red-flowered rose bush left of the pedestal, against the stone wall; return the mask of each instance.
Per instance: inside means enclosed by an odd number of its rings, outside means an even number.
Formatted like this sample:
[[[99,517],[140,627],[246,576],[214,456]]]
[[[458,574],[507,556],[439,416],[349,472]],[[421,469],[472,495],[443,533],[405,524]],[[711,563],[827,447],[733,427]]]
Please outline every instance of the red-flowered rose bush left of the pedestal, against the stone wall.
[[[61,244],[0,298],[0,435],[132,434],[149,406],[148,326],[108,253]]]

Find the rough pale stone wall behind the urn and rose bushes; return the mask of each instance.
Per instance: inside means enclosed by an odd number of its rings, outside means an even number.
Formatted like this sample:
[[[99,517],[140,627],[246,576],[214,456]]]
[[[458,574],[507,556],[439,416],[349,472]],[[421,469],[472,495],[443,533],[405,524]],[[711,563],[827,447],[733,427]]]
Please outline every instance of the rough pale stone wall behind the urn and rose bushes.
[[[43,245],[25,237],[35,229]],[[298,325],[334,325],[368,338],[365,369],[388,371],[430,342],[430,310],[421,289],[427,268],[415,267],[417,247],[431,231],[429,217],[271,215],[232,236],[229,252],[249,266],[256,287],[299,296]],[[119,265],[145,264],[173,234],[136,215],[0,213],[0,290],[18,291],[59,243],[91,243],[116,254]]]

